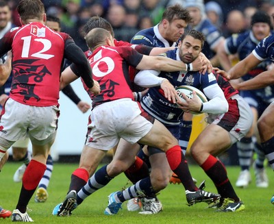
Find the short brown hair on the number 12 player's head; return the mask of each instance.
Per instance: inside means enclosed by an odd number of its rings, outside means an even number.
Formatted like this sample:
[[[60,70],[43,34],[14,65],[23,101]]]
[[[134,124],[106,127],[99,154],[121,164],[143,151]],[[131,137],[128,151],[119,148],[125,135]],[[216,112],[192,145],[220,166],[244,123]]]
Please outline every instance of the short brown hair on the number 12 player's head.
[[[42,20],[45,7],[40,0],[21,0],[17,5],[17,11],[23,21],[33,18]]]

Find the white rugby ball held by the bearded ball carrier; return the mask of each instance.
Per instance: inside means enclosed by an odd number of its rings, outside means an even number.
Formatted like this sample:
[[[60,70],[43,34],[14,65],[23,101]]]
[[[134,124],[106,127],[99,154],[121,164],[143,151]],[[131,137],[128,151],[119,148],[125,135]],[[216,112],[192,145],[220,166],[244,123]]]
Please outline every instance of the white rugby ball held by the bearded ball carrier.
[[[186,95],[186,97],[188,97],[189,99],[192,99],[193,97],[193,91],[196,92],[197,97],[200,99],[201,103],[205,103],[208,101],[208,99],[206,99],[206,96],[203,94],[203,92],[201,92],[201,90],[193,87],[193,86],[178,86],[176,88],[176,91],[178,93],[179,98],[181,99],[181,101],[185,101],[184,97],[182,96],[182,92],[184,92],[184,95]],[[203,112],[190,112],[191,114],[203,114]]]

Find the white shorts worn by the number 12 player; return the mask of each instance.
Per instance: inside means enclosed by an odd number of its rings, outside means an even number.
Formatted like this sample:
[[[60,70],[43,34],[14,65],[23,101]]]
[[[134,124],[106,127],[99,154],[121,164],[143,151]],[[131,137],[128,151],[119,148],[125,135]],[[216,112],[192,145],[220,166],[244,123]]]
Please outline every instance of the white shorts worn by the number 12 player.
[[[56,132],[59,114],[56,105],[36,107],[9,98],[1,112],[0,137],[14,142],[26,137],[45,140]]]

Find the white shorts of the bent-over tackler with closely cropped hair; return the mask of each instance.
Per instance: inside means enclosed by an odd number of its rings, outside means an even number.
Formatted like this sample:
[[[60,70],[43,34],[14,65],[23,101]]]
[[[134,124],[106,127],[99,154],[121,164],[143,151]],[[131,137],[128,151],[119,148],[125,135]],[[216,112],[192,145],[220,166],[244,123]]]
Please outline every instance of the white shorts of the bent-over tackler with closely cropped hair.
[[[132,144],[145,136],[153,126],[140,115],[138,103],[132,99],[118,99],[97,105],[90,114],[90,134],[86,145],[108,151],[120,138]]]

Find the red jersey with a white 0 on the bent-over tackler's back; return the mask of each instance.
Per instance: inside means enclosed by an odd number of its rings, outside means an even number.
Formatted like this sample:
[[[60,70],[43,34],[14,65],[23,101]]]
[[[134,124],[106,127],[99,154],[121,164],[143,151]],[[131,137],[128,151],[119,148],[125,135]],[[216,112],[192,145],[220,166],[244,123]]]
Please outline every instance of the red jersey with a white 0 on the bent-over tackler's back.
[[[132,99],[129,65],[137,66],[140,60],[142,54],[132,47],[102,46],[95,49],[88,61],[92,68],[93,79],[101,86],[101,93],[93,96],[84,85],[92,99],[92,106],[116,99]]]

